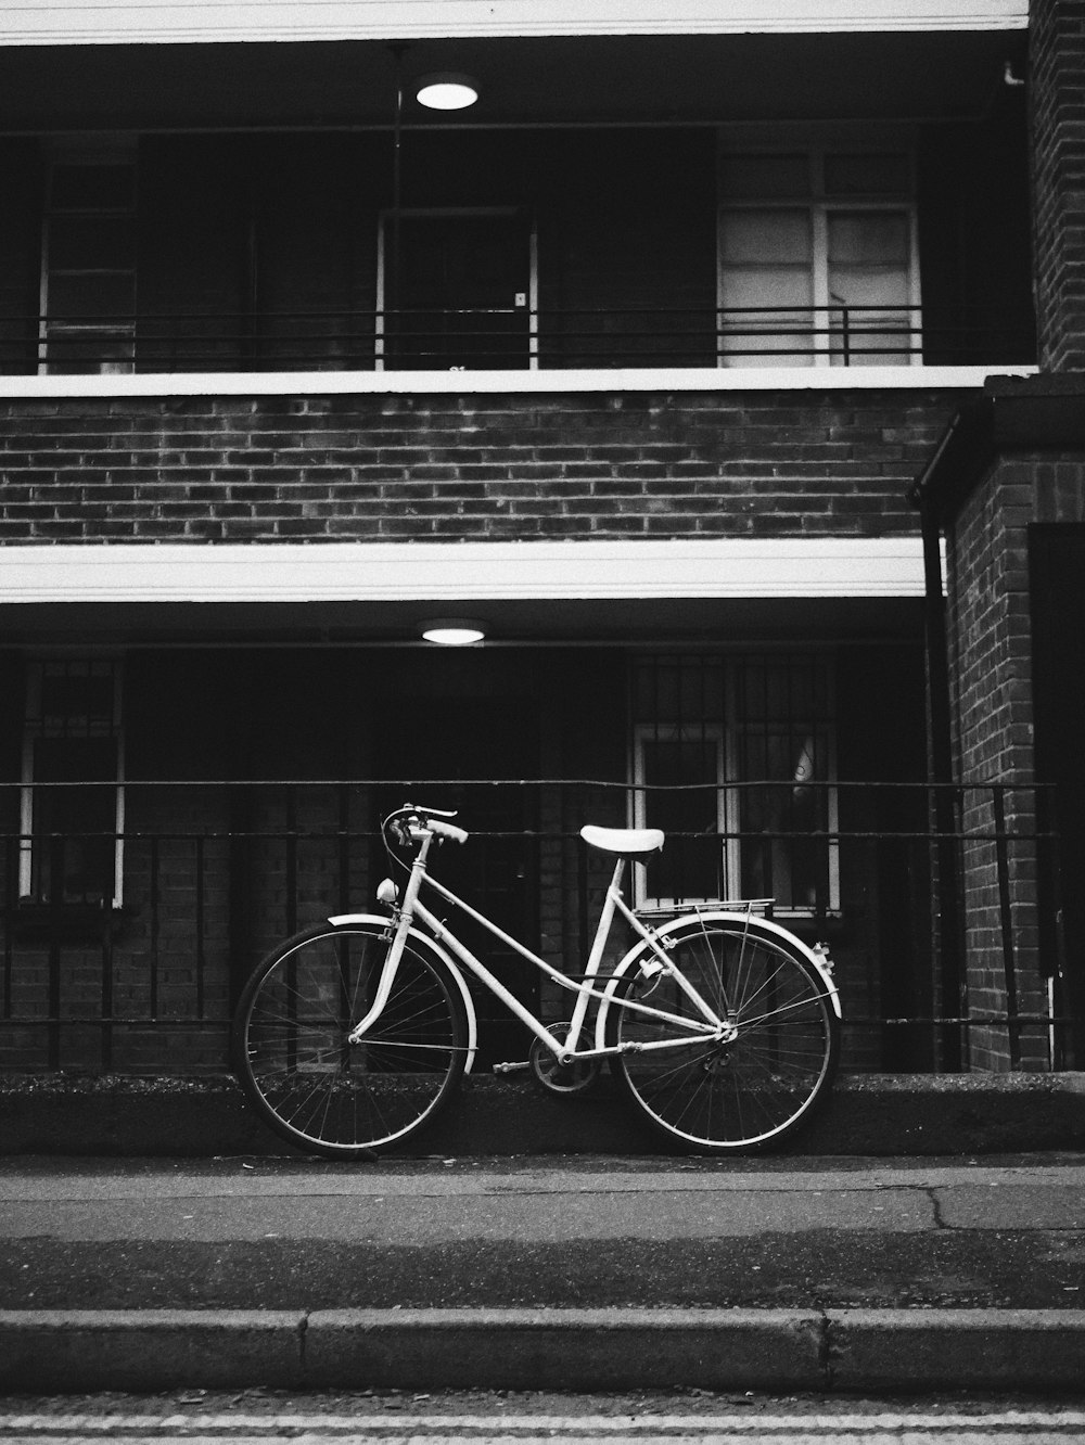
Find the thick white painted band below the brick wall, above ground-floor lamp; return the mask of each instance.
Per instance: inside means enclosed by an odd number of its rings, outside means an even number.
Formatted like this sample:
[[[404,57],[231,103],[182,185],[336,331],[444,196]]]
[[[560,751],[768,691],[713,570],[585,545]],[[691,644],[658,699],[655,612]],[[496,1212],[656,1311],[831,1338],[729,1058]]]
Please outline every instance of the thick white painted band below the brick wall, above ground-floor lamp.
[[[917,536],[0,549],[0,604],[922,595]]]

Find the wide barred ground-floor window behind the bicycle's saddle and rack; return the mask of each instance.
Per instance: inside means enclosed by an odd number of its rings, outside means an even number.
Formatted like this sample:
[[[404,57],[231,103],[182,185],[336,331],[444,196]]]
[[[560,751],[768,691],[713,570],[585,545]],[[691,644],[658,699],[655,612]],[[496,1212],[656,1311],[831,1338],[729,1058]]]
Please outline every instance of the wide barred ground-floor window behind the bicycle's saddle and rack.
[[[826,656],[646,657],[633,708],[633,824],[667,834],[636,870],[641,907],[839,907]]]

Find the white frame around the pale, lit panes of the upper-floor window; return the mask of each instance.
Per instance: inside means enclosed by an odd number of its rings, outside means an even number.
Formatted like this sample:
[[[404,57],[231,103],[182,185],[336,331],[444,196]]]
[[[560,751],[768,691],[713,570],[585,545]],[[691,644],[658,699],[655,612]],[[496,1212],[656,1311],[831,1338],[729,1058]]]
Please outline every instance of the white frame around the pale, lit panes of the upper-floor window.
[[[887,353],[880,364],[886,366],[922,366],[923,364],[923,335],[922,335],[922,290],[920,290],[920,269],[919,269],[919,215],[916,204],[916,153],[915,144],[903,137],[886,137],[880,144],[860,144],[854,139],[837,140],[832,137],[825,137],[819,140],[787,140],[780,137],[779,140],[757,140],[750,143],[743,143],[740,140],[722,140],[719,150],[719,171],[722,171],[722,162],[728,156],[743,156],[743,158],[780,158],[787,155],[802,155],[806,158],[806,172],[808,172],[808,191],[806,195],[774,195],[764,192],[761,195],[740,195],[728,197],[724,194],[722,178],[718,184],[717,194],[717,366],[722,368],[732,368],[740,366],[760,366],[760,364],[779,364],[779,366],[802,366],[802,367],[854,367],[855,361],[841,360],[841,348],[838,332],[832,325],[832,312],[828,309],[834,305],[829,293],[829,218],[834,214],[847,212],[861,212],[861,214],[903,214],[907,223],[907,301],[899,308],[902,312],[907,312],[909,331],[903,338],[903,344],[899,351]],[[829,194],[826,189],[826,159],[837,156],[877,156],[877,155],[897,155],[907,159],[907,191],[897,194],[873,194],[861,192],[855,194]],[[757,360],[757,353],[731,358],[727,351],[727,332],[725,332],[725,316],[728,311],[725,299],[725,273],[727,266],[724,263],[724,218],[728,212],[737,211],[802,211],[808,217],[809,236],[810,236],[810,259],[809,259],[809,279],[810,279],[810,305],[818,308],[812,312],[810,318],[810,332],[809,351],[796,350],[790,354],[780,354],[777,357],[769,357],[766,363]],[[771,309],[771,302],[766,305],[766,309]],[[802,306],[787,308],[789,311],[802,312]],[[819,318],[826,318],[824,329],[819,327]],[[861,334],[861,332],[860,332]],[[771,331],[766,331],[764,335],[771,337]],[[861,354],[863,348],[858,347],[857,351]],[[902,361],[902,358],[907,358]],[[863,366],[860,361],[858,366]]]

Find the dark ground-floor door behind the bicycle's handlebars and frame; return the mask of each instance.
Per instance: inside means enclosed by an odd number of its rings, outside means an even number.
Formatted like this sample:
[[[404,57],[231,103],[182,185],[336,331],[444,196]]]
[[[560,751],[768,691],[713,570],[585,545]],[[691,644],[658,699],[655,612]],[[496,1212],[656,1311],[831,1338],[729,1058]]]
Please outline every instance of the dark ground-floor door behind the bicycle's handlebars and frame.
[[[377,728],[380,789],[386,812],[403,802],[457,809],[468,842],[431,853],[431,871],[513,938],[537,952],[535,709],[520,699],[402,696]],[[448,916],[457,936],[532,1010],[539,1009],[539,971],[493,933],[426,900]],[[527,1058],[530,1035],[493,994],[468,978],[480,1025],[480,1066]]]

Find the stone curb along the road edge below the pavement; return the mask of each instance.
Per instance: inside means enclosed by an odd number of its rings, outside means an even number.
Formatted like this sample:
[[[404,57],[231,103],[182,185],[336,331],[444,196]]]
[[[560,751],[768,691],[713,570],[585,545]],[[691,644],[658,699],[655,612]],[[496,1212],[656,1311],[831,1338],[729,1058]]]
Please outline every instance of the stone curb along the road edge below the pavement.
[[[0,1392],[1085,1390],[1085,1311],[1,1311]]]

